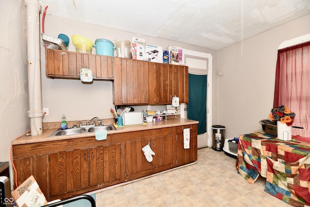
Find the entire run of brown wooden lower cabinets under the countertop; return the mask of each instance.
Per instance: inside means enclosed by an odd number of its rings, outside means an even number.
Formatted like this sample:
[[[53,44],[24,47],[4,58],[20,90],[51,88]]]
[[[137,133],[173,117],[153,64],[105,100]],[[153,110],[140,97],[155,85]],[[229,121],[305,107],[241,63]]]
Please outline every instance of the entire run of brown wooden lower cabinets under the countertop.
[[[183,128],[190,129],[190,148],[183,147]],[[152,162],[142,147],[155,153]],[[33,175],[48,201],[151,175],[197,160],[197,124],[13,145],[17,185]],[[15,186],[16,188],[16,186]]]

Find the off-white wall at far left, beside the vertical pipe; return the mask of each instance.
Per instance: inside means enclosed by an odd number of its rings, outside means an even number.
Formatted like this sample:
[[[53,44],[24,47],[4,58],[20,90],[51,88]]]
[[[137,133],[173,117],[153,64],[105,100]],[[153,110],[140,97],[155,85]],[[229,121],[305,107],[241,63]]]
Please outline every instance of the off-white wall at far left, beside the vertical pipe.
[[[0,0],[0,8],[0,161],[9,161],[11,142],[30,129],[26,10],[16,0]]]

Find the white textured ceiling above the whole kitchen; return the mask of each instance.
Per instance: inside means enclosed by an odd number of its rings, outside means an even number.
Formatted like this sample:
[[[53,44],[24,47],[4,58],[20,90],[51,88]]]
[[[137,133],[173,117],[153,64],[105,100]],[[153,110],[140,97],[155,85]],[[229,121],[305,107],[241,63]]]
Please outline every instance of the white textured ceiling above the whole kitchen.
[[[310,0],[41,0],[41,3],[42,10],[48,5],[47,15],[215,50],[310,14]]]

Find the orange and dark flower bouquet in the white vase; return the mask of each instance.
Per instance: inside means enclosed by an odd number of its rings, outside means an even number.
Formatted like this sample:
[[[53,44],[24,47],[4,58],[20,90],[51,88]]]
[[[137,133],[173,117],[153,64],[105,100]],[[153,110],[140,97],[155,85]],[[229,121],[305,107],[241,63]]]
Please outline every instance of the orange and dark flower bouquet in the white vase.
[[[269,119],[271,121],[280,121],[282,124],[292,126],[294,122],[295,113],[287,106],[281,105],[271,110]]]

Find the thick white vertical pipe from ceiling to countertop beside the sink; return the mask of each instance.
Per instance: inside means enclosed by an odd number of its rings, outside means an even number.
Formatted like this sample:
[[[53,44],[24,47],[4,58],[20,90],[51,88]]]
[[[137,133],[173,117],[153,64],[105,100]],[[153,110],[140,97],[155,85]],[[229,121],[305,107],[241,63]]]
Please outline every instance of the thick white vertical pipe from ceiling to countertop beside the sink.
[[[40,69],[40,20],[39,0],[25,0],[27,7],[28,88],[31,136],[40,135],[42,129],[42,96]]]

